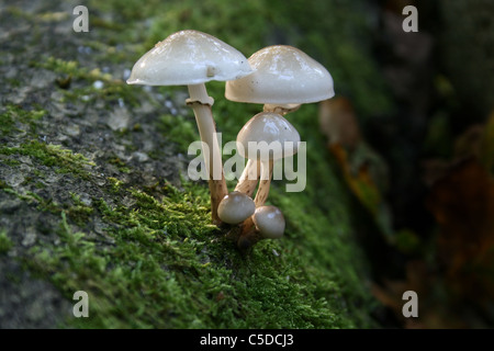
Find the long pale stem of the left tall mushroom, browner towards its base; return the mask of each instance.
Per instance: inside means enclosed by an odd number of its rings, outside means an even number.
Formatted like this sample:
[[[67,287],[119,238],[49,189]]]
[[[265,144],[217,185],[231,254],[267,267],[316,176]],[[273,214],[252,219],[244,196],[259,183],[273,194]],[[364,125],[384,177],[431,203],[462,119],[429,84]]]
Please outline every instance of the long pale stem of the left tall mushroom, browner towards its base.
[[[204,83],[188,86],[190,99],[187,104],[194,111],[201,141],[207,145],[207,150],[203,148],[204,161],[209,174],[209,185],[211,193],[211,216],[213,223],[221,224],[217,216],[217,206],[228,190],[226,188],[225,176],[223,173],[222,155],[216,137],[216,127],[213,120],[211,106],[214,100],[207,95]]]

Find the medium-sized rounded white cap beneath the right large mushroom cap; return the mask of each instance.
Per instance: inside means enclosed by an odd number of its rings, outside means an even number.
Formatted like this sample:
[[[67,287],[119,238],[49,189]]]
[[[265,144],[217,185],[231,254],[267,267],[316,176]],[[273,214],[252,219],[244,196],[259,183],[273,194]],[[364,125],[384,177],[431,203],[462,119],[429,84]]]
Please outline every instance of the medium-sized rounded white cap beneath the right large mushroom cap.
[[[299,141],[299,132],[283,116],[261,112],[251,117],[238,133],[237,150],[245,158],[268,161],[296,154]],[[249,152],[250,143],[257,145],[255,154]]]

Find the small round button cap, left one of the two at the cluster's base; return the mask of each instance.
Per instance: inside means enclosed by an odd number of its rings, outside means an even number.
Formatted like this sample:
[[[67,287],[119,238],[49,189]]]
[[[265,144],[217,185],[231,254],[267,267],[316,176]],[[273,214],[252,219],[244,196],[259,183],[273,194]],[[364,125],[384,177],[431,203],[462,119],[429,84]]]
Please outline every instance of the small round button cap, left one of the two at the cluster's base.
[[[255,211],[254,200],[238,191],[223,197],[217,206],[220,219],[227,224],[239,224],[250,217]]]

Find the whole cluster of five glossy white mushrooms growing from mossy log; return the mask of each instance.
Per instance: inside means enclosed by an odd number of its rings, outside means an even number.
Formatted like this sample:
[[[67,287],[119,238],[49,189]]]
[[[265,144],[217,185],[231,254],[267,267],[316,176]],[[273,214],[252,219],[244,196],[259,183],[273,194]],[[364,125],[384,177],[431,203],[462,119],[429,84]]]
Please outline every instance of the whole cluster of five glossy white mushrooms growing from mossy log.
[[[248,159],[235,188],[228,194],[211,106],[204,83],[226,81],[225,98],[236,102],[263,104],[263,112],[250,118],[237,135],[238,152]],[[274,45],[248,59],[234,47],[205,33],[181,31],[145,54],[132,69],[130,84],[188,86],[209,172],[213,223],[236,225],[239,247],[261,238],[281,238],[284,217],[274,206],[266,206],[273,171],[279,158],[296,154],[299,132],[283,116],[302,103],[332,98],[333,78],[316,60],[297,48]],[[249,143],[292,145],[282,155],[255,152]],[[289,143],[287,143],[289,141]],[[258,186],[259,183],[259,186]],[[254,192],[258,186],[255,199]]]

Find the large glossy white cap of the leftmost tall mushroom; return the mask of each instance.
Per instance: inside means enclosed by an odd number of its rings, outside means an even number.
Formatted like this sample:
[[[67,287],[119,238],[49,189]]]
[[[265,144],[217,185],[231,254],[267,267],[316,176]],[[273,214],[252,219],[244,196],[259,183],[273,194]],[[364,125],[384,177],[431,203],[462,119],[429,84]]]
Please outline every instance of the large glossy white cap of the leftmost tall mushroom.
[[[236,48],[189,30],[171,34],[141,57],[127,83],[189,86],[238,79],[251,72],[247,58]]]

